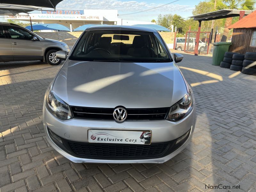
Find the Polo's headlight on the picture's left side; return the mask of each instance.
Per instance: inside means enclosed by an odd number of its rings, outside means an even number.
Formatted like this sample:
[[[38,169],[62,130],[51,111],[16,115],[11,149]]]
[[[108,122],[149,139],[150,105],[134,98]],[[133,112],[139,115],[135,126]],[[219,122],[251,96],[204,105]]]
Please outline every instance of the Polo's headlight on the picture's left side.
[[[70,107],[62,99],[52,92],[51,86],[45,93],[45,106],[52,113],[52,115],[62,119],[73,118]]]

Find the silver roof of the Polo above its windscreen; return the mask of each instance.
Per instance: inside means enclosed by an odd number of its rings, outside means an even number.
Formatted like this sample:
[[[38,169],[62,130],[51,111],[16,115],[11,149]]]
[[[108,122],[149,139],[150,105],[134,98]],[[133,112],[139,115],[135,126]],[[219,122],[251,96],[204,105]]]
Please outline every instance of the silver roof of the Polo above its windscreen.
[[[127,25],[97,25],[88,27],[85,31],[97,30],[128,30],[128,31],[143,31],[143,32],[157,32],[156,29],[140,26],[127,26]]]

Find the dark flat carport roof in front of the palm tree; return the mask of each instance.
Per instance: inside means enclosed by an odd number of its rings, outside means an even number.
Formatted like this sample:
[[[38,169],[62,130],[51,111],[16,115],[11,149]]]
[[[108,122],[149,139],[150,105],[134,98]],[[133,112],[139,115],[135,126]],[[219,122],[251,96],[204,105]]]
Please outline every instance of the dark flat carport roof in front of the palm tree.
[[[244,11],[244,15],[249,15],[251,12],[253,12],[248,10],[221,9],[209,13],[191,16],[190,18],[194,18],[195,21],[209,21],[228,17],[237,17],[240,15],[240,11]]]

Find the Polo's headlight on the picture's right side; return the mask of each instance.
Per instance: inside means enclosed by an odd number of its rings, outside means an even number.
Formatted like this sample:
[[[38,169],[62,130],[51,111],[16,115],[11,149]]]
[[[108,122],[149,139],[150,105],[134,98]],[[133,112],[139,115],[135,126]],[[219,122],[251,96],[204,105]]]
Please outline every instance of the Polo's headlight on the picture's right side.
[[[193,109],[193,95],[190,88],[188,89],[187,95],[175,103],[169,111],[167,120],[169,121],[179,121],[187,116]]]

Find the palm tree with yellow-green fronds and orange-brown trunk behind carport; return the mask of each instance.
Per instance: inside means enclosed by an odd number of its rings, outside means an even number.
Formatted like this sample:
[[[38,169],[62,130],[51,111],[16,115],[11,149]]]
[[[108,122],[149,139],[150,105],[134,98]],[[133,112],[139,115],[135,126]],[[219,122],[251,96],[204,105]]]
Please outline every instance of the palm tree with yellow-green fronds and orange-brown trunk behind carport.
[[[210,0],[213,4],[215,0]],[[217,0],[216,10],[220,9],[240,9],[240,10],[254,10],[256,0]],[[228,26],[232,24],[232,17],[226,19],[222,42],[226,42],[228,38]]]

